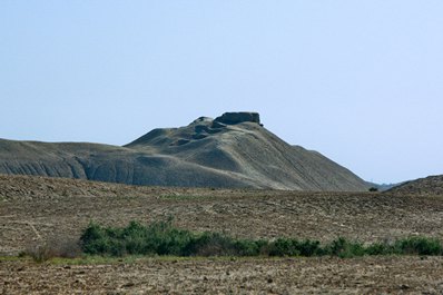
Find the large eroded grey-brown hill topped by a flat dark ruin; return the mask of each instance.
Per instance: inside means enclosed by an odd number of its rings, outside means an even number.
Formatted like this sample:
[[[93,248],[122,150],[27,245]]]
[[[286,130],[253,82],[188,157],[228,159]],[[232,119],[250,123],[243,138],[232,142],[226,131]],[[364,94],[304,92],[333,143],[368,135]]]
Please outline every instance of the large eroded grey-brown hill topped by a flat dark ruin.
[[[279,139],[257,112],[200,117],[185,127],[154,129],[122,147],[0,139],[0,173],[181,187],[368,187],[319,153]]]

